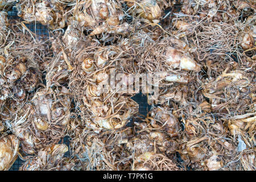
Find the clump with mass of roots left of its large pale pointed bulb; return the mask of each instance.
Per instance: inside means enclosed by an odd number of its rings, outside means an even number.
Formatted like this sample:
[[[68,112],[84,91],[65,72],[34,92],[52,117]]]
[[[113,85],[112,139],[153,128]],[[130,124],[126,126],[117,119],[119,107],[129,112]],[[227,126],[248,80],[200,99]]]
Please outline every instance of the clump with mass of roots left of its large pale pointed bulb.
[[[160,40],[150,40],[141,38],[141,34],[146,34],[146,32],[134,34],[131,38],[131,44],[133,41],[138,43],[136,61],[140,69],[145,69],[151,74],[167,72],[172,75],[180,75],[184,77],[184,80],[188,77],[185,71],[200,71],[200,65],[191,56],[193,49],[183,41],[172,36],[166,36]]]

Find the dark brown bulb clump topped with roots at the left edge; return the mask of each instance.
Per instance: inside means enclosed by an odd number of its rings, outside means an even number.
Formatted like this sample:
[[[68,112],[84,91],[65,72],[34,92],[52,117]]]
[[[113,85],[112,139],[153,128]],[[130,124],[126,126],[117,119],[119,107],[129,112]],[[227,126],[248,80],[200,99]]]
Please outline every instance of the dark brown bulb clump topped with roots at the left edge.
[[[22,28],[24,32],[20,31]],[[47,57],[47,45],[26,28],[23,23],[11,22],[5,30],[0,48],[2,104],[9,98],[17,103],[26,102],[42,80],[39,64]]]

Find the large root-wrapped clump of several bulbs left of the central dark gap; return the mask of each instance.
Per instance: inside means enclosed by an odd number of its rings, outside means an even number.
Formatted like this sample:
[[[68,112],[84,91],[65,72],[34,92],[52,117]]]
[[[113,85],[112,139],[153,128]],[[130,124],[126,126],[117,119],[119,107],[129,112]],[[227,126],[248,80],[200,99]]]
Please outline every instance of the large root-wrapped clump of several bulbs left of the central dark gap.
[[[69,88],[73,93],[77,114],[94,130],[115,130],[126,125],[129,118],[138,112],[138,104],[131,100],[134,94],[126,90],[105,88],[109,82],[110,72],[125,73],[126,69],[117,69],[119,61],[129,59],[131,55],[113,46],[89,47],[76,52],[71,59],[72,73],[69,74]],[[132,60],[131,60],[132,61]],[[133,71],[133,70],[132,70]],[[128,78],[115,81],[115,84],[133,84]]]

